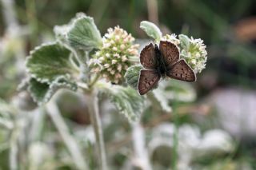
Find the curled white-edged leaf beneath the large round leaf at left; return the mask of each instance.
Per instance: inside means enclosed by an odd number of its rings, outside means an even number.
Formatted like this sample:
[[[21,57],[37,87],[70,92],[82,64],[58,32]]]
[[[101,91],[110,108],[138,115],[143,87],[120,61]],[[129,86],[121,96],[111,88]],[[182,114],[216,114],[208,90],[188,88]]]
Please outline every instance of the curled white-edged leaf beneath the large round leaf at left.
[[[78,86],[67,77],[57,77],[56,80],[48,83],[42,83],[34,78],[29,81],[28,91],[31,97],[38,105],[45,104],[58,91],[58,89],[70,89],[76,91]]]

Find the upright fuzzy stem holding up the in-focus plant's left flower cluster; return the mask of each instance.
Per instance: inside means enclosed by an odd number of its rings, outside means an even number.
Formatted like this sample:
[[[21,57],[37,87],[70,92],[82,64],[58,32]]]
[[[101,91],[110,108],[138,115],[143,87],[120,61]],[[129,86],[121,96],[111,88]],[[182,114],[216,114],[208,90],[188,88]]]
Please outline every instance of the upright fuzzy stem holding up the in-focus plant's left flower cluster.
[[[102,132],[102,122],[98,112],[98,92],[96,91],[96,89],[92,89],[90,93],[86,93],[85,97],[90,113],[90,121],[94,127],[94,135],[96,139],[97,150],[101,160],[101,169],[107,170],[105,143]]]

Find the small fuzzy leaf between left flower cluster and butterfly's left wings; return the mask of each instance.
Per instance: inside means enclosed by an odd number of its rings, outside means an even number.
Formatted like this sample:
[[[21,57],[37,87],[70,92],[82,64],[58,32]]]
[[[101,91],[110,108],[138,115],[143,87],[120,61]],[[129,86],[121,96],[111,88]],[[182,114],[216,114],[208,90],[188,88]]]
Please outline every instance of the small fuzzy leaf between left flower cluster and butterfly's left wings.
[[[142,65],[133,65],[126,70],[125,74],[126,83],[136,90],[138,88],[138,77],[141,69]]]

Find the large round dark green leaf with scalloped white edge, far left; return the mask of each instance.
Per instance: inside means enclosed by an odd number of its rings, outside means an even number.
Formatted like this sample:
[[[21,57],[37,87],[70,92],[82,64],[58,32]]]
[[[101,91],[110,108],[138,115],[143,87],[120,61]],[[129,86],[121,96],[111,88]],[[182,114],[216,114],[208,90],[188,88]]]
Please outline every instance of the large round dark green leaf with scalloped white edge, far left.
[[[41,82],[54,81],[59,76],[69,75],[74,71],[70,64],[70,50],[53,42],[36,47],[26,60],[26,69],[31,77]]]

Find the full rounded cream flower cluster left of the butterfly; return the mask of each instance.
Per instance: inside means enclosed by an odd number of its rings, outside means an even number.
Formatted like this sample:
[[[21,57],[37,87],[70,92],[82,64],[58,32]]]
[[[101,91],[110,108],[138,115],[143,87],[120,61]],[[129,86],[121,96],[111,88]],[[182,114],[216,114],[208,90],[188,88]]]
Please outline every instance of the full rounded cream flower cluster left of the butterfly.
[[[107,30],[102,38],[102,48],[90,60],[94,73],[101,73],[106,81],[120,84],[126,69],[132,65],[129,57],[138,56],[138,46],[133,44],[134,38],[119,26]]]

